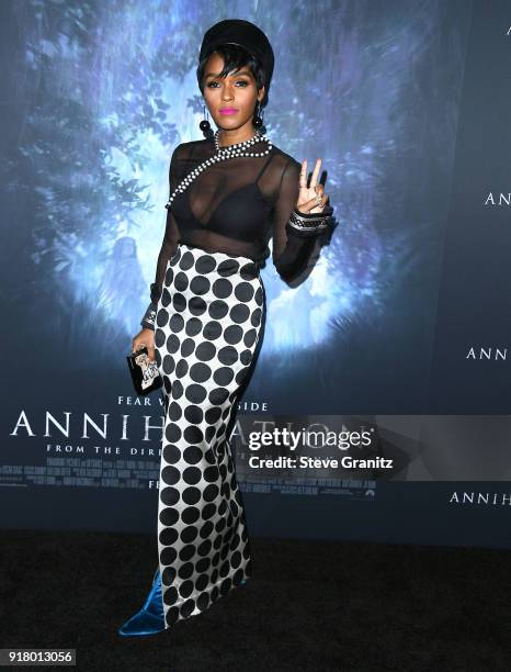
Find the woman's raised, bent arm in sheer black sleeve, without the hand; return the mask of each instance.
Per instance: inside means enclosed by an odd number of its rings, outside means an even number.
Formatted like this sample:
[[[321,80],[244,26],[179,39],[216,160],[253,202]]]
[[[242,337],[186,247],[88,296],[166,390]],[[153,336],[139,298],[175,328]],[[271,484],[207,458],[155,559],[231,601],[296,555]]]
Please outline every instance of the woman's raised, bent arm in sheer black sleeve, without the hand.
[[[300,164],[292,159],[283,170],[279,197],[273,205],[273,254],[272,260],[280,277],[287,283],[292,282],[309,266],[310,258],[316,248],[318,236],[325,227],[314,225],[318,215],[303,213],[299,216],[310,220],[311,225],[298,228],[289,223],[293,211],[298,201]],[[325,208],[321,216],[330,216],[331,206]]]

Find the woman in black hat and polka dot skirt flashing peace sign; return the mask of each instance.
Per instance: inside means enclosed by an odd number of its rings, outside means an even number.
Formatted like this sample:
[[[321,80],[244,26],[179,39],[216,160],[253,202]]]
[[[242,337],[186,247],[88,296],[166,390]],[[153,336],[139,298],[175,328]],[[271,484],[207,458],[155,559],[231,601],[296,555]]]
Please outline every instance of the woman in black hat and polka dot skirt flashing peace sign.
[[[158,568],[121,635],[149,635],[200,614],[251,575],[245,511],[229,436],[262,344],[260,277],[273,264],[294,281],[309,266],[332,209],[318,183],[257,128],[273,51],[252,23],[204,35],[197,80],[218,130],[179,145],[170,164],[167,225],[151,303],[133,339],[163,378]],[[254,131],[256,127],[256,131]]]

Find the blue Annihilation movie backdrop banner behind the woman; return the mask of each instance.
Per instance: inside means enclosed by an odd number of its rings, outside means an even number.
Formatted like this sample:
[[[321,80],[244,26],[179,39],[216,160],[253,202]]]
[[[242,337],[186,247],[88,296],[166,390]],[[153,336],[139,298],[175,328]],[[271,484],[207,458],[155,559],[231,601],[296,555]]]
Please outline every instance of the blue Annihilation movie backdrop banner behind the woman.
[[[268,317],[231,435],[252,535],[511,548],[506,0],[1,3],[0,526],[156,533],[163,397],[126,362],[195,68],[275,51],[268,135],[338,226]]]

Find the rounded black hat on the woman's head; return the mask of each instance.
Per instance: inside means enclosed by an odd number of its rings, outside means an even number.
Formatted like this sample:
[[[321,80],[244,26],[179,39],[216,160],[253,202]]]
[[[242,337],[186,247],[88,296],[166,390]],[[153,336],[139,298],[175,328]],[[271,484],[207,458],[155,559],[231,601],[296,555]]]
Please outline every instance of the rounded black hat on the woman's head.
[[[206,58],[220,44],[237,44],[259,58],[266,75],[264,83],[266,97],[275,58],[272,45],[261,29],[243,19],[226,19],[215,23],[204,34],[198,61]]]

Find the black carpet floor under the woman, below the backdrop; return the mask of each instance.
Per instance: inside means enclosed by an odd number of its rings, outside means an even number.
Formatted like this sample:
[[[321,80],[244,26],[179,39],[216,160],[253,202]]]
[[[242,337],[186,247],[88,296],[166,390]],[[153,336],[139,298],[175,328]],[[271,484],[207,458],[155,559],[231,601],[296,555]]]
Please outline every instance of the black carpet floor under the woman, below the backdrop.
[[[0,648],[72,648],[80,670],[511,668],[509,551],[252,538],[245,585],[128,639],[116,630],[149,592],[155,537],[2,537]]]

